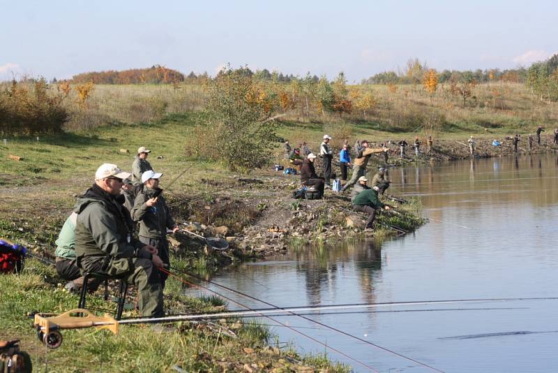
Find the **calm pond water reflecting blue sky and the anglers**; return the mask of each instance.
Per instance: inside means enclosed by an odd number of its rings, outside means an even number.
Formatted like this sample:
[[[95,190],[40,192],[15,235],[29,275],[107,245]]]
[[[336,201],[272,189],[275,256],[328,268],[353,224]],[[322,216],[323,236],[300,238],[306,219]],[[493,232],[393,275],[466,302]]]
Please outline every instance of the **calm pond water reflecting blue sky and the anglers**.
[[[214,281],[280,307],[558,296],[556,156],[408,167],[392,170],[390,176],[394,184],[389,193],[420,197],[430,217],[416,233],[381,247],[349,242],[292,252],[246,263],[238,269],[243,275],[224,272]],[[235,299],[249,307],[268,307]],[[556,307],[558,300],[478,302],[308,317],[444,372],[558,372]],[[276,319],[379,372],[428,371],[298,317]],[[294,341],[303,353],[324,352],[323,346],[292,330],[273,330],[280,341]],[[370,371],[327,353],[356,372]]]

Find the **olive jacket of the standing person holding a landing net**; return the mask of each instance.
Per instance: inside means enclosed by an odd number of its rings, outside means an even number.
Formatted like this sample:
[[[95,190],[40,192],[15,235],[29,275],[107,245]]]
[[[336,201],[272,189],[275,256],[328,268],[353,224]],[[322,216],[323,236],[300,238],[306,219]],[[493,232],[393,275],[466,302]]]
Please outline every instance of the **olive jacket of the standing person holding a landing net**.
[[[153,198],[155,189],[145,187],[134,201],[132,219],[140,222],[140,236],[165,240],[167,228],[174,227],[174,219],[170,216],[167,202],[163,196],[158,196],[157,203],[151,207],[146,201]]]

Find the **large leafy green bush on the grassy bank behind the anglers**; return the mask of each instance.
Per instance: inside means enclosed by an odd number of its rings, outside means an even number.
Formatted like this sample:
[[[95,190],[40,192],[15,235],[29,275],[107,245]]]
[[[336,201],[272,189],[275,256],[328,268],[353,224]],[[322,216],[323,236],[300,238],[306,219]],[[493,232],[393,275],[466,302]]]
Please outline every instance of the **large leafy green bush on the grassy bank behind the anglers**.
[[[243,68],[221,71],[208,91],[205,115],[193,130],[187,152],[223,161],[232,170],[268,164],[277,139],[270,96]]]

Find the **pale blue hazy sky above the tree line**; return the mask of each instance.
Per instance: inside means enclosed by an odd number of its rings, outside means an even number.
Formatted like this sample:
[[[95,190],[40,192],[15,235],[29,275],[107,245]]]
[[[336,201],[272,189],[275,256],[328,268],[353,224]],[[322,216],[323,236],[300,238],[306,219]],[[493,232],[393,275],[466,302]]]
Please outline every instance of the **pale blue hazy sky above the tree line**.
[[[515,68],[558,52],[557,14],[558,1],[537,0],[0,0],[0,80],[231,64],[358,82],[412,57]]]

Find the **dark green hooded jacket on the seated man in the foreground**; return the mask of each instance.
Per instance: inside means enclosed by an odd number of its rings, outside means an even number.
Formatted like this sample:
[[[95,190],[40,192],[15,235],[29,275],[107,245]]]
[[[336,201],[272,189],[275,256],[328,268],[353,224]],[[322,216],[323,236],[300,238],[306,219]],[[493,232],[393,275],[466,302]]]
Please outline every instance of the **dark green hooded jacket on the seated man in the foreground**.
[[[133,221],[122,203],[123,196],[111,196],[96,184],[77,198],[74,212],[77,214],[75,254],[78,261],[151,258],[149,251],[140,250],[144,244],[133,238]]]

